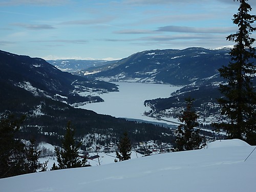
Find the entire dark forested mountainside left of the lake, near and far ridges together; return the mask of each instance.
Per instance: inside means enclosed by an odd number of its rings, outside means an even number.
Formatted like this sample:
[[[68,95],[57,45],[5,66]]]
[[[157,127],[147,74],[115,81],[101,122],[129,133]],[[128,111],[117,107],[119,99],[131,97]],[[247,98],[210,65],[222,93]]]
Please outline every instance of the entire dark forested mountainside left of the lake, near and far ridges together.
[[[78,102],[101,101],[90,93],[117,91],[115,84],[88,80],[61,72],[44,59],[0,51],[0,115],[26,115],[18,137],[59,144],[71,121],[76,137],[84,143],[116,143],[124,131],[132,142],[172,142],[172,131],[149,123],[138,123],[93,111],[76,109]],[[88,95],[84,97],[82,95]],[[163,134],[165,133],[165,135]],[[86,136],[89,135],[89,139]]]

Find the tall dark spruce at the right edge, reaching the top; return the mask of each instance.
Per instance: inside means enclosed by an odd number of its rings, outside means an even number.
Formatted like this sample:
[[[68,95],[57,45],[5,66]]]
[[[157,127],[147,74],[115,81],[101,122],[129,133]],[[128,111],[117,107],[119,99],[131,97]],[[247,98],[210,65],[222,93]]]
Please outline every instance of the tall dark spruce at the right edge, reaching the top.
[[[226,115],[229,122],[215,126],[217,131],[225,130],[229,139],[237,138],[256,144],[256,93],[252,84],[256,66],[251,61],[256,56],[255,49],[252,48],[255,39],[250,37],[256,29],[251,26],[256,16],[249,14],[251,6],[247,0],[239,2],[238,13],[232,19],[239,30],[226,37],[227,40],[236,42],[236,45],[230,52],[229,65],[219,69],[226,82],[220,84],[220,92],[224,97],[219,98],[218,102],[221,114]]]

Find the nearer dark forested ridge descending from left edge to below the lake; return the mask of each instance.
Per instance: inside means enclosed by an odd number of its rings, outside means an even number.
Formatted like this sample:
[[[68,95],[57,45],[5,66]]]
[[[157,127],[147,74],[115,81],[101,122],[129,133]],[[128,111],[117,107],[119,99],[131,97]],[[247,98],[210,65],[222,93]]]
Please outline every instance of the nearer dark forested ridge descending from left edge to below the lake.
[[[2,82],[0,81],[0,83]],[[63,122],[67,122],[67,120],[74,122],[76,137],[99,133],[111,135],[109,142],[114,143],[118,142],[124,130],[129,130],[132,143],[147,140],[168,142],[170,140],[168,135],[172,135],[172,131],[169,129],[150,123],[137,123],[109,115],[99,115],[89,110],[75,109],[66,103],[50,98],[34,97],[30,92],[11,86],[9,83],[1,85],[0,113],[8,110],[17,114],[27,114],[23,129],[18,133],[18,138],[29,140],[32,135],[38,142],[45,141],[60,146],[59,135],[65,134]],[[8,93],[8,95],[4,93]],[[33,115],[37,106],[41,106],[42,115]],[[45,132],[50,134],[46,135]],[[162,133],[166,133],[166,135]]]

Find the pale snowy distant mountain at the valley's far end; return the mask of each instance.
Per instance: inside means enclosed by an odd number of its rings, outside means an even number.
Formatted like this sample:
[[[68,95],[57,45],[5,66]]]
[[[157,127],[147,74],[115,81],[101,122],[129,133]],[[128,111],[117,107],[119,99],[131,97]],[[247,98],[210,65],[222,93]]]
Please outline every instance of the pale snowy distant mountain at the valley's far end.
[[[75,75],[79,74],[90,74],[95,73],[94,69],[97,69],[98,72],[103,71],[104,68],[109,69],[113,63],[118,60],[77,60],[77,59],[57,59],[57,60],[47,60],[47,62],[51,63],[53,66],[58,68],[61,71],[69,72]],[[104,67],[102,67],[104,66]]]

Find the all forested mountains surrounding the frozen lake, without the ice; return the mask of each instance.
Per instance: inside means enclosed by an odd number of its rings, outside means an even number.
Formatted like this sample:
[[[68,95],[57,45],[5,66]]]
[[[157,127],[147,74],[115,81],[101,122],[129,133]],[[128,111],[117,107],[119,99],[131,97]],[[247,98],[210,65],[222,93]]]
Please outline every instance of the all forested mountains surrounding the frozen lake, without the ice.
[[[133,142],[168,142],[173,137],[171,130],[148,123],[98,115],[73,106],[103,101],[91,94],[118,91],[116,84],[110,83],[111,81],[167,83],[182,88],[169,98],[152,98],[144,102],[151,106],[155,116],[173,113],[170,109],[181,108],[184,98],[188,96],[195,98],[198,110],[203,114],[210,114],[214,107],[208,103],[214,103],[216,98],[221,97],[218,88],[223,79],[218,69],[228,65],[229,52],[230,48],[187,48],[143,51],[110,62],[51,61],[59,69],[69,69],[73,74],[79,75],[77,76],[60,71],[41,58],[0,51],[0,114],[26,114],[27,119],[20,137],[29,139],[33,135],[39,141],[52,144],[57,144],[68,120],[73,122],[77,137],[81,140],[85,135],[91,134],[91,141],[87,142],[116,142],[123,131],[127,130]],[[255,59],[252,61],[256,63]],[[87,64],[80,65],[82,62]],[[253,83],[256,84],[255,78]],[[148,114],[153,114],[152,112]]]

